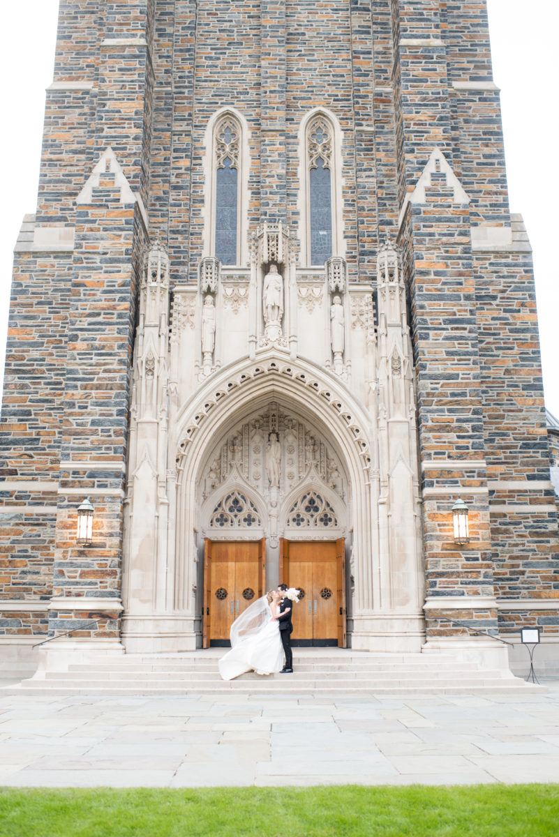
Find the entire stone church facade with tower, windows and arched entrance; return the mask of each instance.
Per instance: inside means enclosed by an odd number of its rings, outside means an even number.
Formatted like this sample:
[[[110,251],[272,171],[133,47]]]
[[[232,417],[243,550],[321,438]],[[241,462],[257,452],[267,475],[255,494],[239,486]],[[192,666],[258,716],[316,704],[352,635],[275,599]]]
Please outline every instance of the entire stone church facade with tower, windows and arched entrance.
[[[14,665],[220,644],[280,578],[303,644],[556,650],[484,0],[62,0],[0,439]]]

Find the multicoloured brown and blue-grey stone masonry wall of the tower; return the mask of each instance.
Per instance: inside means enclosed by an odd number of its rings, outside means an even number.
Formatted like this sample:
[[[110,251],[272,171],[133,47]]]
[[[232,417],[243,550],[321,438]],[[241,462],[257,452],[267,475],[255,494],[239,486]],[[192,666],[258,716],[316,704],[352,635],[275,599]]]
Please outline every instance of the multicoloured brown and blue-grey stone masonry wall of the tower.
[[[280,218],[297,234],[298,131],[319,106],[343,134],[350,280],[371,280],[401,216],[428,637],[464,633],[453,618],[493,633],[536,620],[555,636],[559,547],[531,254],[509,211],[485,0],[61,0],[37,212],[14,261],[0,634],[44,634],[49,609],[52,632],[119,635],[142,250],[148,230],[162,234],[172,285],[197,281],[205,132],[226,106],[249,127],[249,234]],[[77,206],[107,146],[126,188],[113,167]],[[440,171],[423,202],[413,198],[436,146],[467,203]],[[88,494],[94,545],[77,549]],[[457,496],[470,508],[465,547],[450,531]]]

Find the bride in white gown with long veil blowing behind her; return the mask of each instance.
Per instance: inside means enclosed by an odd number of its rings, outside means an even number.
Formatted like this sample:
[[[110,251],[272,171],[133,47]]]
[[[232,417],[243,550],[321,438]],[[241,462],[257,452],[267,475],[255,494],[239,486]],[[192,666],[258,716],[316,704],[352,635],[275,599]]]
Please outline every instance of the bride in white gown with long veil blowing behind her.
[[[231,625],[231,650],[218,662],[223,680],[254,670],[257,675],[280,671],[284,665],[281,643],[280,593],[270,590],[258,598]],[[288,608],[290,609],[290,608]],[[287,613],[284,610],[284,614]]]

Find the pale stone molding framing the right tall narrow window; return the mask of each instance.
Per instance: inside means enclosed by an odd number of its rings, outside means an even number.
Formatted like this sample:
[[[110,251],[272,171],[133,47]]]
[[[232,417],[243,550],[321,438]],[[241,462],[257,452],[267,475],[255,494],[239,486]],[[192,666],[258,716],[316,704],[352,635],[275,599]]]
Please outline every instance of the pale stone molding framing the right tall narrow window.
[[[297,209],[299,212],[299,242],[300,264],[310,267],[310,218],[309,218],[309,161],[307,150],[307,133],[310,123],[317,117],[323,116],[332,130],[331,143],[331,188],[332,188],[332,255],[346,256],[346,239],[344,236],[343,217],[343,189],[342,177],[343,160],[341,156],[343,134],[336,114],[326,107],[310,110],[302,118],[299,127],[299,167],[297,177],[299,192],[297,195]]]

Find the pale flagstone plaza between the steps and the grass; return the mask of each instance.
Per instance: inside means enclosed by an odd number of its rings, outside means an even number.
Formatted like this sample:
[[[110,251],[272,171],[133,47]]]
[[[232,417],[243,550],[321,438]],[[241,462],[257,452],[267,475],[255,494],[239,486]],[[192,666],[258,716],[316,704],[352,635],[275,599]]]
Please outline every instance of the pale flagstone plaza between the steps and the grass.
[[[559,682],[489,696],[1,696],[0,784],[559,782]]]

